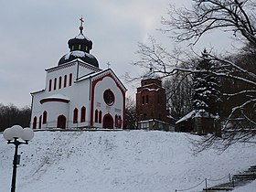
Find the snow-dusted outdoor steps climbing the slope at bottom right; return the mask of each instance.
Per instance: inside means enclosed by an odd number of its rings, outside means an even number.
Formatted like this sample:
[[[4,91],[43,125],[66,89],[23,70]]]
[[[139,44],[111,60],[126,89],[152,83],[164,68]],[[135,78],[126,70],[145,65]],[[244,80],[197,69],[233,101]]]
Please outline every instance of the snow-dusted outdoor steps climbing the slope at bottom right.
[[[206,187],[204,192],[231,191],[234,187],[244,186],[256,179],[256,165],[251,166],[245,172],[232,176],[228,183],[220,184],[215,187]]]

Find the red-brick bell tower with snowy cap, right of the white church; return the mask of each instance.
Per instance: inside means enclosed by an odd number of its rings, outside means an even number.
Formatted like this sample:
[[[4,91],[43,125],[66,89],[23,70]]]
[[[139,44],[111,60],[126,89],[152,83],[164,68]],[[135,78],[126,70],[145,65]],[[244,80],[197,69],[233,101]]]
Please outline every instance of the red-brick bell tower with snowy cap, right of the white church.
[[[165,89],[162,87],[162,80],[152,69],[144,75],[141,87],[137,88],[136,112],[138,128],[158,129],[154,127],[155,121],[169,124]]]

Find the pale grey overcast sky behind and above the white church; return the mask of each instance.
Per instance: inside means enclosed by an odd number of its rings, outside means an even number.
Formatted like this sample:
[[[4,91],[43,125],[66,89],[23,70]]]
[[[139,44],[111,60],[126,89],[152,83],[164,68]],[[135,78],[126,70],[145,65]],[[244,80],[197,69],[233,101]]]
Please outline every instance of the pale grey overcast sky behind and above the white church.
[[[101,69],[107,62],[120,78],[125,72],[139,74],[131,66],[137,43],[158,36],[161,16],[168,4],[189,0],[44,0],[5,1],[0,7],[0,103],[30,105],[30,92],[45,88],[45,69],[58,65],[69,52],[68,40],[79,34],[83,16],[84,35],[93,42],[91,54]],[[160,35],[159,35],[160,36]],[[171,44],[171,43],[170,43]],[[128,94],[135,94],[130,84]]]

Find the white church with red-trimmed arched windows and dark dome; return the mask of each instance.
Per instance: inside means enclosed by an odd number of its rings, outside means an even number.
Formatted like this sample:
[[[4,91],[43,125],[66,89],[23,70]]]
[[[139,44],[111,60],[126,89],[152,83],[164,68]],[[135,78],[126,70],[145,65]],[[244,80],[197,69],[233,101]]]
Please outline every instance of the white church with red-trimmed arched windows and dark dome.
[[[112,69],[99,68],[82,23],[69,53],[46,69],[46,88],[31,93],[33,129],[123,128],[127,90]]]

